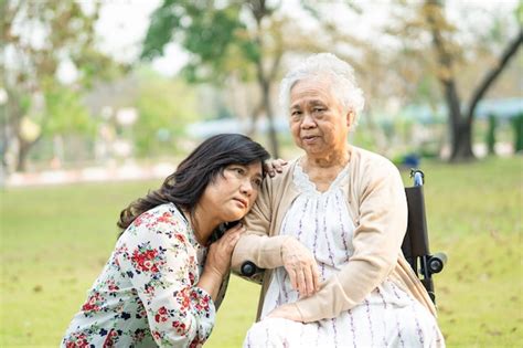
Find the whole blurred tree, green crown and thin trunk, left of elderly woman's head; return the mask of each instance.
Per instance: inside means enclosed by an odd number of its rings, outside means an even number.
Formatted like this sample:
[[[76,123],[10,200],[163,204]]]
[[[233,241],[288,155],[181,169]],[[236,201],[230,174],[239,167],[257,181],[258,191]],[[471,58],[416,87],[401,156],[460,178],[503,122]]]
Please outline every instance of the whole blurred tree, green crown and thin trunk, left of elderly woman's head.
[[[265,0],[189,1],[164,0],[151,18],[142,57],[152,59],[171,41],[192,53],[184,68],[189,81],[222,82],[231,72],[256,80],[260,102],[253,112],[253,124],[260,112],[269,122],[269,144],[278,157],[270,91],[284,54],[280,21],[273,14],[277,6]]]

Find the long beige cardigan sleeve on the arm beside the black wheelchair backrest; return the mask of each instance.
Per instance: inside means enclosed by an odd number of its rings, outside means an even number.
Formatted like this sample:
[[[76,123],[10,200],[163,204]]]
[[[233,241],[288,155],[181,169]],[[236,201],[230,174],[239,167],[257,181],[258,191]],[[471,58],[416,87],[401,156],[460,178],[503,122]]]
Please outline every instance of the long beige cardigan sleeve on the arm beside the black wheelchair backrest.
[[[361,176],[354,253],[314,295],[296,302],[302,321],[337,317],[360,304],[395,267],[407,226],[407,202],[397,168],[384,158]]]

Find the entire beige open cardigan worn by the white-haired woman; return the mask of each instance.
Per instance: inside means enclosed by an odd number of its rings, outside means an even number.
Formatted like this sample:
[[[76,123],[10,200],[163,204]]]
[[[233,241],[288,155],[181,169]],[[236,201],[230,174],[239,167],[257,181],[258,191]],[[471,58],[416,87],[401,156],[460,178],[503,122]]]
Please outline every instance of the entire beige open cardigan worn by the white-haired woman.
[[[354,254],[314,295],[296,306],[305,323],[337,317],[362,303],[386,277],[419,300],[436,316],[436,308],[401,251],[407,224],[407,204],[397,168],[386,158],[350,146],[349,184],[343,190],[355,229]],[[258,304],[259,316],[271,270],[282,266],[281,245],[291,236],[278,235],[281,222],[298,196],[292,182],[296,160],[281,175],[264,180],[253,210],[245,218],[247,232],[239,239],[232,267],[245,261],[267,268]]]

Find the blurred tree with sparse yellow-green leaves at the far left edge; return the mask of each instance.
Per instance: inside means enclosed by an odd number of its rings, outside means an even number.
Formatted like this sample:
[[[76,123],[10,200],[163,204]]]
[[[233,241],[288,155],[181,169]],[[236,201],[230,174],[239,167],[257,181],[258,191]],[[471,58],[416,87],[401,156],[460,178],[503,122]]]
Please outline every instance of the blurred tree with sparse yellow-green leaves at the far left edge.
[[[111,60],[93,49],[98,8],[98,2],[84,9],[73,0],[2,2],[0,74],[8,98],[1,125],[3,141],[18,143],[17,170],[25,170],[30,149],[46,129],[64,130],[75,124],[67,117],[56,118],[57,108],[63,109],[61,103],[77,98],[60,92],[63,84],[57,73],[63,64],[78,71],[77,85],[68,87],[76,93],[89,86],[94,77],[108,77],[117,71]],[[61,126],[58,118],[64,120]],[[28,136],[23,127],[28,123],[43,131]],[[7,146],[2,157],[6,150]]]

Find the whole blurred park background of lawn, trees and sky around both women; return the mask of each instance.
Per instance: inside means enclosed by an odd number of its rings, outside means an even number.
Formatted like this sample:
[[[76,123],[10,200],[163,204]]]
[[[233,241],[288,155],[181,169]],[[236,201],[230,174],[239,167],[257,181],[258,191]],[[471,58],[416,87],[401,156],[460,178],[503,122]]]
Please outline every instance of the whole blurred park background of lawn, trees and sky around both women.
[[[449,346],[523,344],[523,1],[0,0],[0,346],[56,346],[119,211],[217,133],[298,156],[278,104],[316,52],[365,94],[356,146],[426,171]],[[409,184],[404,171],[405,184]],[[210,347],[259,289],[233,277]]]

